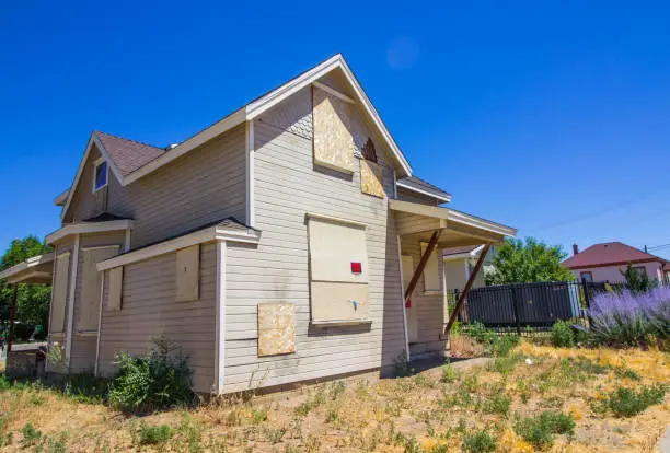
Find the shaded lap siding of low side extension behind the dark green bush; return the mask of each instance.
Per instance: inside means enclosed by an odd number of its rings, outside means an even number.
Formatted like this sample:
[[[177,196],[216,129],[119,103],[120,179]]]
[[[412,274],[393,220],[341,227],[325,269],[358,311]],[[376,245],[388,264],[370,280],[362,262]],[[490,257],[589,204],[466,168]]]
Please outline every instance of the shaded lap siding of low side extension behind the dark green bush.
[[[153,337],[164,335],[188,357],[195,390],[211,391],[216,345],[215,244],[200,246],[198,301],[175,302],[175,253],[124,267],[122,311],[103,311],[100,369],[104,375],[115,371],[116,352],[143,355]]]

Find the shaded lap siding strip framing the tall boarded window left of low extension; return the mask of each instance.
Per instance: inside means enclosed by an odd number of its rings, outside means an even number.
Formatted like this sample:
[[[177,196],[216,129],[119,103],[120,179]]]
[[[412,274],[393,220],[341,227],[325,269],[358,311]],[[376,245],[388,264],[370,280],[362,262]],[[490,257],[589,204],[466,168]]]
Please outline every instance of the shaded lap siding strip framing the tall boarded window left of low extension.
[[[118,245],[119,252],[123,251],[124,233],[113,232],[106,234],[83,235],[80,240],[80,248],[100,247],[103,245]],[[83,276],[83,252],[79,252],[79,263],[77,266],[77,288],[74,290],[74,314],[72,323],[72,348],[70,351],[70,372],[93,372],[95,368],[95,348],[97,345],[96,335],[78,335],[77,321],[79,320],[80,298]]]

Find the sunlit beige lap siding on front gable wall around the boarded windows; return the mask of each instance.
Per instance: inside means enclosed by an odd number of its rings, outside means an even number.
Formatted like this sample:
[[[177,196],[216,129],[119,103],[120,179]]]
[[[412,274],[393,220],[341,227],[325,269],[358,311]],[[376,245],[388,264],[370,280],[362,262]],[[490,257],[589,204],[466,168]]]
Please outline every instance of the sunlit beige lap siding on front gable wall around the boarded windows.
[[[314,170],[309,138],[263,121],[254,124],[254,133],[255,226],[263,233],[258,246],[228,244],[224,391],[392,364],[404,349],[404,332],[388,200],[361,193],[358,162],[353,177],[336,176]],[[393,193],[389,169],[384,186]],[[368,225],[371,326],[310,326],[307,212]],[[296,353],[258,358],[257,304],[279,301],[296,304]]]

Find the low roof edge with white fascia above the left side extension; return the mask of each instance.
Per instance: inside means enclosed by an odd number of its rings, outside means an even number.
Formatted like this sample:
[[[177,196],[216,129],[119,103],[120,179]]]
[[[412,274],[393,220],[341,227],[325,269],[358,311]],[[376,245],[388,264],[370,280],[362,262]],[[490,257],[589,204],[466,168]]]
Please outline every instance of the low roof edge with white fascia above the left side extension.
[[[159,244],[139,248],[134,252],[128,252],[114,258],[97,263],[97,270],[113,269],[119,266],[126,266],[132,263],[143,262],[155,256],[165,255],[176,252],[182,248],[190,247],[192,245],[203,244],[212,241],[231,241],[257,244],[261,241],[261,233],[256,230],[247,230],[242,232],[239,230],[220,228],[218,225],[209,226],[204,230],[195,231],[180,237],[168,240]]]

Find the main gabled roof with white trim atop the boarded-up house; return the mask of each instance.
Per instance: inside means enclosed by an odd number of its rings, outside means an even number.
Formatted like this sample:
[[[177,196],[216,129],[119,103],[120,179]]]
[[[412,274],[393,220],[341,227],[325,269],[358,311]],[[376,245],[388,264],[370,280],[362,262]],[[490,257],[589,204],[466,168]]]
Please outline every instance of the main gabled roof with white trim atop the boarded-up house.
[[[68,193],[67,201],[65,202],[61,212],[61,219],[65,218],[70,201],[74,195],[92,143],[97,146],[105,160],[109,163],[109,167],[120,185],[127,186],[128,184],[162,167],[163,165],[166,165],[175,159],[190,152],[200,144],[213,139],[217,136],[220,136],[227,130],[230,130],[243,123],[253,120],[267,109],[274,107],[303,88],[313,84],[319,79],[335,69],[340,69],[343,71],[345,79],[351,86],[355,97],[360,102],[363,111],[370,116],[372,123],[378,127],[381,137],[391,149],[393,156],[403,171],[402,176],[412,176],[412,167],[405,159],[405,155],[397,147],[397,143],[395,143],[391,132],[389,132],[386,129],[386,126],[377,113],[377,109],[370,102],[362,86],[356,79],[356,76],[354,76],[354,72],[345,61],[343,55],[336,54],[327,60],[289,80],[285,84],[263,94],[249,104],[234,111],[223,119],[215,123],[206,129],[203,129],[176,147],[168,150],[94,131],[91,135],[91,139],[89,140],[89,144],[86,147],[86,152],[84,153],[84,158],[80,163],[74,182]]]

